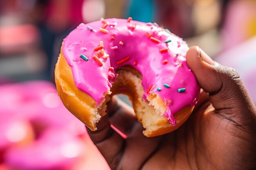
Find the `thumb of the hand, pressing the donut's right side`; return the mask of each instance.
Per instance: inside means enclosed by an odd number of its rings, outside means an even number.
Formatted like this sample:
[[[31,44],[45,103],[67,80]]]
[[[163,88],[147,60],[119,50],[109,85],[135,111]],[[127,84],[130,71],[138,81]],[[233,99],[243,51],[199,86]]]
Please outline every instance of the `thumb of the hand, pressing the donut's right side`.
[[[201,88],[209,93],[211,104],[216,110],[255,113],[254,103],[234,68],[214,62],[198,46],[189,49],[186,60]]]

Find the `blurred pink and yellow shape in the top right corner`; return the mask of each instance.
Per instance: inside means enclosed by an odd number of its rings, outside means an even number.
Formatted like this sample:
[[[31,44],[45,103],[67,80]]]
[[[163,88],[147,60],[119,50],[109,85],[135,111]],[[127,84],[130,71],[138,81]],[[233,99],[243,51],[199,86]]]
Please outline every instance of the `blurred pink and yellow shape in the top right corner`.
[[[256,35],[256,1],[230,1],[222,28],[224,49]]]

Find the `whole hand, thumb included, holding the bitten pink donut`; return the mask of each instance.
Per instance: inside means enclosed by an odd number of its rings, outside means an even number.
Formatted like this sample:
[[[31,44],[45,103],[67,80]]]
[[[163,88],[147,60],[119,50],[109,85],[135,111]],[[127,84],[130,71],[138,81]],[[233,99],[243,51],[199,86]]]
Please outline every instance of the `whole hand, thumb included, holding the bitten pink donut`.
[[[88,130],[110,168],[256,169],[256,108],[239,75],[213,62],[198,47],[189,49],[187,63],[203,91],[192,115],[179,129],[147,138],[132,108],[113,97],[108,116],[97,124],[98,130]]]

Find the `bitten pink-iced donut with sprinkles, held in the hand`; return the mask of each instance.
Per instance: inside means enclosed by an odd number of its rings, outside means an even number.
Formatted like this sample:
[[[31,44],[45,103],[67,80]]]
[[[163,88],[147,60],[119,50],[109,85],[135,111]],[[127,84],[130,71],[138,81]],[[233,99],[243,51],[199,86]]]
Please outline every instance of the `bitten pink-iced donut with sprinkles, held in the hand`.
[[[200,86],[186,64],[186,42],[156,23],[102,19],[79,24],[63,40],[55,68],[58,95],[90,130],[112,95],[129,96],[147,137],[180,127]]]

